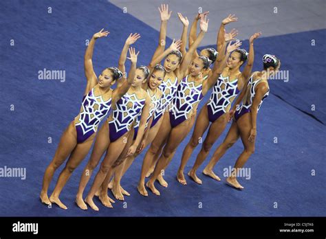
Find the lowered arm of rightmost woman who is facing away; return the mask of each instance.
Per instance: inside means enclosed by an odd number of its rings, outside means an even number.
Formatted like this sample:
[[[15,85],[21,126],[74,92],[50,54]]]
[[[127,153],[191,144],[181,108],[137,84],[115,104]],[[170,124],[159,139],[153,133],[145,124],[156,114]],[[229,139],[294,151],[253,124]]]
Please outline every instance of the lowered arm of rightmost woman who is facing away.
[[[250,142],[254,141],[254,137],[257,135],[257,112],[258,112],[258,106],[261,102],[261,99],[263,99],[263,96],[265,93],[268,92],[268,84],[267,82],[261,82],[257,84],[256,86],[256,94],[254,95],[254,100],[252,101],[251,106],[251,130],[250,130],[250,136],[248,140]]]

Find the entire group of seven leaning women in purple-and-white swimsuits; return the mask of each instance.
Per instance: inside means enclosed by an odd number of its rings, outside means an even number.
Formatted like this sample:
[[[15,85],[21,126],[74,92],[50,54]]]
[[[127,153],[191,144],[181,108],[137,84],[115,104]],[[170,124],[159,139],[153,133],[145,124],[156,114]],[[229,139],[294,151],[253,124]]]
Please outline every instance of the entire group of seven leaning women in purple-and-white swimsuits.
[[[129,196],[121,187],[120,181],[135,158],[149,145],[142,162],[138,192],[148,196],[148,187],[151,192],[160,195],[154,182],[157,180],[163,187],[168,186],[162,170],[166,170],[177,147],[190,133],[193,124],[195,128],[182,153],[177,181],[186,185],[184,168],[208,130],[195,164],[188,172],[193,181],[202,184],[197,177],[197,169],[231,120],[232,125],[226,138],[215,150],[203,173],[220,181],[213,168],[226,150],[241,137],[243,152],[226,181],[237,189],[243,188],[237,181],[237,171],[254,152],[257,112],[263,100],[268,97],[268,78],[279,70],[281,62],[276,56],[265,54],[263,69],[252,72],[254,41],[261,36],[261,32],[250,36],[249,53],[240,49],[241,42],[235,38],[237,30],[233,29],[228,33],[225,30],[226,25],[238,20],[232,14],[221,22],[217,34],[217,49],[206,48],[197,52],[197,47],[208,30],[208,12],[195,16],[188,36],[188,51],[186,41],[189,21],[178,13],[183,24],[181,40],[173,40],[166,48],[166,26],[171,11],[169,12],[169,5],[165,4],[161,5],[159,11],[160,38],[147,67],[136,66],[139,52],[131,45],[138,41],[140,34],[130,34],[124,43],[118,67],[108,67],[100,76],[96,76],[92,63],[94,45],[98,38],[108,36],[109,32],[102,29],[91,38],[84,58],[87,85],[83,103],[80,113],[61,136],[54,158],[45,170],[40,195],[42,203],[55,203],[67,209],[59,195],[72,172],[87,156],[94,141],[94,148],[81,175],[76,195],[76,204],[80,209],[87,209],[89,205],[98,211],[94,196],[98,196],[106,207],[112,207],[111,203],[114,201],[107,194],[108,188],[118,200],[124,200],[125,195]],[[131,62],[128,73],[124,66],[127,59]],[[162,60],[164,64],[160,65]],[[244,64],[243,71],[240,71]],[[111,89],[113,84],[117,84],[115,89]],[[211,88],[213,90],[210,99],[197,115],[199,102]],[[233,101],[235,102],[232,104]],[[107,122],[98,130],[98,125],[106,115],[109,115]],[[100,163],[103,155],[105,157]],[[49,198],[47,190],[54,172],[66,159],[65,168]],[[100,168],[84,200],[83,192],[98,163]],[[145,187],[146,177],[150,179]]]

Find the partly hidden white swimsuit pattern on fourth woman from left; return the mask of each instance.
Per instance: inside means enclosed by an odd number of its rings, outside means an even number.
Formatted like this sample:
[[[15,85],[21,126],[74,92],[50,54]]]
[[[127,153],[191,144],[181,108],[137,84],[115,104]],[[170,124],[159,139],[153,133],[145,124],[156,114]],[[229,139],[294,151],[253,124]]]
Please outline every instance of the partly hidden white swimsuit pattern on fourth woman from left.
[[[177,92],[177,78],[175,78],[175,82],[169,78],[167,80],[163,80],[160,87],[158,87],[162,92],[162,98],[160,100],[160,105],[157,106],[155,111],[155,115],[160,115],[163,111],[166,110],[166,107],[169,106],[173,98],[175,97],[175,92]]]

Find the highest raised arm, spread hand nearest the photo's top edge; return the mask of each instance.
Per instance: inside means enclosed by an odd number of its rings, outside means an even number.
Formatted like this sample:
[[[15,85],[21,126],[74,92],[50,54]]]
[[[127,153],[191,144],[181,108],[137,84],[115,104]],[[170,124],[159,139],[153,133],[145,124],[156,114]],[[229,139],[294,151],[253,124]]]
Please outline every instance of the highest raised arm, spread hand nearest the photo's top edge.
[[[157,56],[159,56],[164,52],[165,45],[166,45],[167,22],[170,19],[172,13],[172,11],[169,12],[169,5],[165,5],[165,4],[161,4],[161,8],[158,8],[158,10],[160,11],[160,17],[161,17],[160,37],[158,39],[158,45],[155,49],[151,61],[153,61],[154,58],[157,58]],[[152,70],[150,68],[150,65],[149,65],[149,70],[150,71]]]

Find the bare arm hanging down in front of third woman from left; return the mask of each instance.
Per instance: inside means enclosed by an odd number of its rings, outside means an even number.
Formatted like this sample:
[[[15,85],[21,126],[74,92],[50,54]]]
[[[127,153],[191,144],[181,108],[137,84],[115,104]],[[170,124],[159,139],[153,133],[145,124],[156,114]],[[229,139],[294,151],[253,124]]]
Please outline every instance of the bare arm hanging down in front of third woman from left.
[[[142,140],[142,137],[144,135],[146,121],[147,121],[147,118],[149,117],[150,109],[151,109],[151,98],[146,93],[146,101],[145,101],[145,105],[142,109],[142,116],[140,117],[140,125],[138,128],[138,134],[137,134],[135,141],[130,146],[130,148],[127,152],[127,157],[129,157],[135,153],[135,150],[137,149],[138,145],[140,144],[140,141]]]

